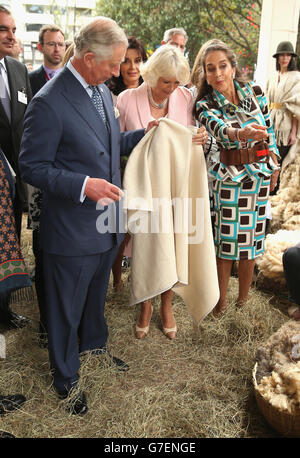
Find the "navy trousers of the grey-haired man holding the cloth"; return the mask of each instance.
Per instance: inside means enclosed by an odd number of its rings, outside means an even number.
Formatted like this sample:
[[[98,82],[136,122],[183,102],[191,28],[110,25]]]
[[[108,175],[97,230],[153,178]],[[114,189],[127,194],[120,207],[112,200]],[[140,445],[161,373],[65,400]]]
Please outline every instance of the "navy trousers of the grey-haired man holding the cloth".
[[[117,252],[117,245],[90,256],[44,252],[48,350],[54,387],[59,392],[77,384],[79,353],[106,346],[104,307]]]

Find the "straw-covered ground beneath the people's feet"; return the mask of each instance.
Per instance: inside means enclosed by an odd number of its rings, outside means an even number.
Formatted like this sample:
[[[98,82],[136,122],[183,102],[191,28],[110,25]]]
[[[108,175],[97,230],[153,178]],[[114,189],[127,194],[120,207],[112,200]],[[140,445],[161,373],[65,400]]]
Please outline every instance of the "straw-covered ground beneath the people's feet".
[[[23,230],[23,253],[33,268],[31,233]],[[274,438],[256,405],[252,369],[257,347],[288,320],[282,296],[253,287],[248,304],[236,310],[237,279],[229,288],[230,307],[220,319],[209,315],[199,331],[176,296],[176,340],[161,331],[154,302],[150,334],[138,341],[133,325],[138,309],[128,306],[129,287],[110,285],[106,317],[109,350],[130,365],[118,374],[101,357],[82,357],[80,382],[89,411],[68,415],[51,386],[47,350],[37,345],[36,302],[13,309],[32,318],[5,332],[7,357],[0,362],[0,394],[23,393],[22,409],[0,417],[0,430],[19,438]]]

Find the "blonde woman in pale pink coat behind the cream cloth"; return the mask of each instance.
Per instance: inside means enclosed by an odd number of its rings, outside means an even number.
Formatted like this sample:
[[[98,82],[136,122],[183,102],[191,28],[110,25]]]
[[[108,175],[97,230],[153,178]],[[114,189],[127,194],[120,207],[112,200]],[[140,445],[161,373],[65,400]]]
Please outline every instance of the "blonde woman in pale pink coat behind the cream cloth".
[[[149,121],[168,117],[189,126],[194,125],[193,98],[184,87],[190,80],[187,59],[174,46],[158,48],[141,68],[144,83],[135,89],[127,89],[117,99],[121,131],[145,128]],[[204,145],[207,132],[202,127],[193,137],[196,144]],[[183,151],[184,154],[184,151]],[[164,334],[174,339],[177,327],[172,311],[173,291],[161,294],[161,319]],[[136,337],[142,339],[149,332],[153,307],[150,300],[141,304],[136,323]]]

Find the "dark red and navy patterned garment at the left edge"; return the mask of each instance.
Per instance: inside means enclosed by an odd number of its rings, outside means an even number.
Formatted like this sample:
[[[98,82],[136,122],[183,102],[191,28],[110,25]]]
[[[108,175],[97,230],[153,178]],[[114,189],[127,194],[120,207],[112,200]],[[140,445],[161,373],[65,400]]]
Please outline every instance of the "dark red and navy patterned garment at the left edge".
[[[11,193],[10,172],[0,151],[0,295],[31,286],[16,234]]]

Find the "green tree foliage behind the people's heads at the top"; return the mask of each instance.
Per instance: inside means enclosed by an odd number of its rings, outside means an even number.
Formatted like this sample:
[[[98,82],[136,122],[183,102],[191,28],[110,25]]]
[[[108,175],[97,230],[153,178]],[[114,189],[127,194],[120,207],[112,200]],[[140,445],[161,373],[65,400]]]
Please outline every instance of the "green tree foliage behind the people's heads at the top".
[[[237,53],[242,67],[257,59],[261,1],[250,0],[98,0],[96,14],[114,19],[147,49],[159,46],[163,33],[183,27],[192,64],[203,43],[219,38]]]

